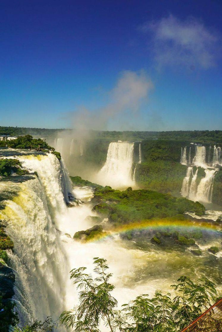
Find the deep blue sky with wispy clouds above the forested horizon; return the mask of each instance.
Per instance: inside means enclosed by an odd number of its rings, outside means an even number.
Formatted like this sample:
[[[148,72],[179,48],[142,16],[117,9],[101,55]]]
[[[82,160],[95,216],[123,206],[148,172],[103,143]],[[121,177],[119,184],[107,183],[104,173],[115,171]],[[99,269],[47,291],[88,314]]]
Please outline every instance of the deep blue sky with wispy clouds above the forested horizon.
[[[222,2],[1,1],[0,125],[222,129]]]

